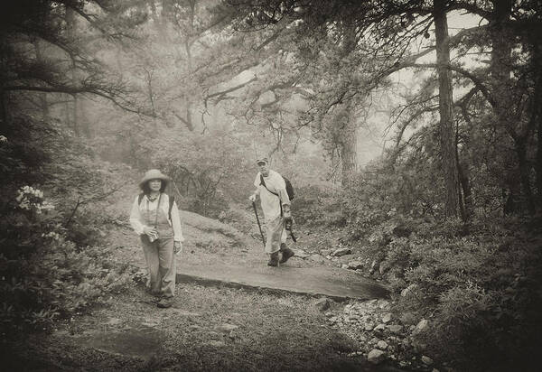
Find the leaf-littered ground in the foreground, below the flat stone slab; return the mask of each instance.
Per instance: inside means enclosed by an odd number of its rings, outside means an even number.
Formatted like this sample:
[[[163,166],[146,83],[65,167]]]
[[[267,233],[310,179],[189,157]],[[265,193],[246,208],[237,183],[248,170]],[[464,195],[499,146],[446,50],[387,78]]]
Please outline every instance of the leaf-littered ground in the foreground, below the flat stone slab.
[[[383,370],[347,354],[351,339],[326,325],[314,299],[265,291],[183,284],[173,308],[159,310],[142,288],[107,308],[72,318],[4,351],[15,370]],[[114,320],[114,321],[112,321]],[[160,330],[153,358],[88,348],[85,340],[152,324]],[[23,364],[22,364],[23,363]]]

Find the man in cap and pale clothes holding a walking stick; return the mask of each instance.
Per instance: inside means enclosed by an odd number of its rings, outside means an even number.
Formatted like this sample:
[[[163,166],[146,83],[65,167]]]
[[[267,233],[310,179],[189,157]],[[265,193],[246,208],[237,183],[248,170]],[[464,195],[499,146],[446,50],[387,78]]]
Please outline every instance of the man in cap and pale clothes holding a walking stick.
[[[282,176],[269,168],[267,158],[257,159],[259,172],[254,186],[256,191],[248,200],[255,202],[259,196],[264,217],[266,219],[266,253],[269,254],[267,265],[276,266],[284,264],[294,251],[286,247],[285,221],[292,219],[290,212],[290,198],[286,192],[285,180]],[[280,261],[279,252],[282,253]]]

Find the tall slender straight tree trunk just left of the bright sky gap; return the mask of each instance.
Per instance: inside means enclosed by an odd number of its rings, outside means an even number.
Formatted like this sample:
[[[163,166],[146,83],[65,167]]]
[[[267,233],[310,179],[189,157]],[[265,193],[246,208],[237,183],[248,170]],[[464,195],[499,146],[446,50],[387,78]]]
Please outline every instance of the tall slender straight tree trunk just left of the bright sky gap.
[[[450,45],[448,43],[448,22],[444,0],[435,0],[433,7],[435,20],[436,64],[439,83],[440,145],[442,170],[444,174],[444,213],[446,217],[456,217],[458,209],[458,176],[455,161],[455,135],[453,133],[453,90],[452,75],[449,69]]]

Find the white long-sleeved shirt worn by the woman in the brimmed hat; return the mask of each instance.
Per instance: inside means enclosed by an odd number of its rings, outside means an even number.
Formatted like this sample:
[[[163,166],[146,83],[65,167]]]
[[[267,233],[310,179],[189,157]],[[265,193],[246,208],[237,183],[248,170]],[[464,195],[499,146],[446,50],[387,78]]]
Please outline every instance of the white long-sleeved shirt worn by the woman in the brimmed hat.
[[[143,218],[143,214],[145,212],[144,209],[147,208],[147,202],[148,202],[148,209],[150,211],[155,211],[158,206],[158,200],[160,198],[157,198],[154,201],[151,201],[147,198],[146,195],[143,196],[143,199],[141,200],[141,203],[138,204],[139,196],[135,197],[134,203],[132,204],[132,210],[130,212],[130,225],[135,231],[135,234],[142,235],[144,234],[143,228],[145,228],[145,219]],[[169,196],[165,193],[162,194],[162,201],[160,202],[160,208],[162,211],[167,215],[169,213]],[[173,240],[182,242],[184,241],[184,237],[182,237],[182,228],[181,228],[181,218],[179,216],[179,209],[177,208],[177,203],[173,201],[172,206],[172,219],[169,220],[170,226],[173,228]]]

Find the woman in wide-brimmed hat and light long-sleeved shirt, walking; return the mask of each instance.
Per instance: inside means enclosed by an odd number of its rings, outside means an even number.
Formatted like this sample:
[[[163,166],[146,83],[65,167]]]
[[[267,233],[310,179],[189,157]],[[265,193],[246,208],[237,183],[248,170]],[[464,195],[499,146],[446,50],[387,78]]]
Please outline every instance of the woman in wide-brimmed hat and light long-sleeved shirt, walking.
[[[175,294],[175,254],[182,251],[181,219],[177,204],[164,193],[169,177],[157,169],[145,172],[139,182],[143,191],[135,197],[130,225],[141,239],[149,273],[147,287],[157,298],[158,307],[173,304]]]

